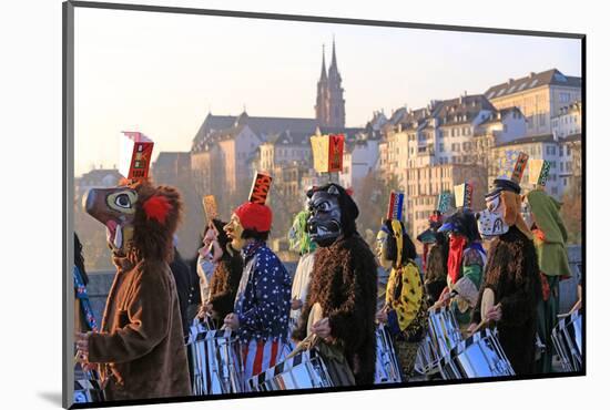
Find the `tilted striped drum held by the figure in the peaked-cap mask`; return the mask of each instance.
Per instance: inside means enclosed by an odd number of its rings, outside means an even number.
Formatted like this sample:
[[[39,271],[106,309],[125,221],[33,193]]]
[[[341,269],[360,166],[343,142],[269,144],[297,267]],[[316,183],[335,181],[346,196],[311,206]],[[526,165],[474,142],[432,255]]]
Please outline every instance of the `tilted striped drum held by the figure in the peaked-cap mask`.
[[[496,330],[484,329],[451,349],[440,359],[440,375],[445,380],[481,377],[515,376]]]

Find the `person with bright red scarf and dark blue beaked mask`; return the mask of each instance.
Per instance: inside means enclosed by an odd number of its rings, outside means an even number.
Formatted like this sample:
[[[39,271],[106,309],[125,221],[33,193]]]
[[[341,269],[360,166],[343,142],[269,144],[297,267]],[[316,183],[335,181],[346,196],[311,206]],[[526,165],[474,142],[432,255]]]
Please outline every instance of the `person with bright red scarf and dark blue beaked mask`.
[[[468,209],[450,215],[439,228],[449,235],[447,286],[435,307],[449,304],[461,328],[470,324],[482,281],[486,253],[480,244],[477,219]]]

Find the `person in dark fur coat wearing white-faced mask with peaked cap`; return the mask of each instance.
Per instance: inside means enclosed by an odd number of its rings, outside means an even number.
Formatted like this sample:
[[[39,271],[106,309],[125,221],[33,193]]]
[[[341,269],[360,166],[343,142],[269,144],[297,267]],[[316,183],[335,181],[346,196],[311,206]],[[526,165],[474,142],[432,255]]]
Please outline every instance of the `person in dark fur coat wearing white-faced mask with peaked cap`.
[[[481,236],[492,242],[469,330],[474,331],[482,319],[496,322],[498,339],[512,369],[517,376],[525,376],[535,372],[541,285],[532,235],[520,214],[519,182],[527,155],[509,155],[514,160],[508,162],[509,172],[494,181],[494,188],[485,196],[487,208],[478,218]],[[492,291],[494,303],[481,311],[487,289]]]

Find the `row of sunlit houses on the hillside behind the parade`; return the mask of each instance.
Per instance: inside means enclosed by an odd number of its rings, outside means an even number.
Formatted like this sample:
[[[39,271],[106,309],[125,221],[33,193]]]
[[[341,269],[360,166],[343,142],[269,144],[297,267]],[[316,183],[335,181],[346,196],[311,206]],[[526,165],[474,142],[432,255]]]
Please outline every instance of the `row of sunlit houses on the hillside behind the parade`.
[[[265,171],[274,176],[274,193],[284,198],[272,205],[296,212],[306,188],[331,177],[313,170],[311,136],[342,133],[343,172],[334,181],[355,189],[372,173],[394,181],[407,194],[406,218],[417,233],[426,227],[438,194],[465,180],[475,183],[475,206],[482,206],[498,160],[509,150],[550,162],[551,195],[561,198],[580,186],[581,111],[581,79],[552,69],[509,79],[481,94],[465,92],[424,107],[397,107],[389,116],[375,112],[363,127],[245,111],[235,116],[209,113],[190,152],[161,153],[153,175],[172,183],[189,173],[199,197],[212,193],[233,207],[247,195],[254,172]],[[525,188],[527,177],[526,171]]]

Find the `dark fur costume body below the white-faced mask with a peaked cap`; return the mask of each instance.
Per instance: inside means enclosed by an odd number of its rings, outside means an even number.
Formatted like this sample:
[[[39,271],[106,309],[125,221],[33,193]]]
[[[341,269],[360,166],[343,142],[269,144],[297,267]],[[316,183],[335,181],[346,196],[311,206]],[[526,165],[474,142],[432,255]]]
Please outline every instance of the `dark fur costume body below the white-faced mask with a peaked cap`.
[[[492,242],[488,257],[472,322],[481,320],[482,291],[491,288],[495,304],[501,304],[500,345],[517,376],[531,375],[535,371],[536,307],[541,298],[533,243],[514,225]]]

